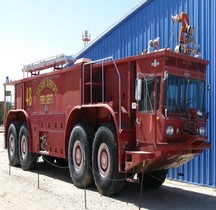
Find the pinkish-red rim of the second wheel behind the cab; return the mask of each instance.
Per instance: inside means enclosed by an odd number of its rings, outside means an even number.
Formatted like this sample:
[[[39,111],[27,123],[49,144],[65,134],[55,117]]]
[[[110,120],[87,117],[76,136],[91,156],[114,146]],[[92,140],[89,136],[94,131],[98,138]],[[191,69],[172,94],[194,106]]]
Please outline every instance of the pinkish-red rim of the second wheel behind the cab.
[[[79,140],[73,146],[73,165],[76,171],[80,171],[83,167],[83,149]]]

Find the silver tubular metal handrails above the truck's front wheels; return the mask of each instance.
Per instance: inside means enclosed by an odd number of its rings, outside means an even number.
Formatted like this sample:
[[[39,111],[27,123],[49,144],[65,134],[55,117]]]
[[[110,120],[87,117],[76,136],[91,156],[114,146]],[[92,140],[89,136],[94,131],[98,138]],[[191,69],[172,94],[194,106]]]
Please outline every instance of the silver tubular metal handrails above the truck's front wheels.
[[[90,103],[92,104],[93,100],[92,100],[92,97],[93,97],[93,88],[92,88],[92,65],[95,64],[95,63],[102,63],[102,102],[104,103],[105,101],[105,96],[104,96],[104,62],[105,61],[109,61],[111,60],[114,64],[114,67],[115,67],[115,70],[116,70],[116,73],[118,75],[118,92],[119,92],[119,107],[118,107],[118,110],[119,110],[119,131],[121,132],[121,75],[120,75],[120,72],[118,70],[118,67],[115,63],[115,60],[113,59],[112,56],[110,57],[106,57],[106,58],[102,58],[102,59],[98,59],[98,60],[95,60],[95,61],[90,61],[90,62],[87,62],[87,63],[84,63],[83,64],[83,69],[82,69],[82,73],[83,73],[83,81],[82,81],[82,104],[84,105],[85,104],[85,66],[87,65],[91,65],[90,66]]]

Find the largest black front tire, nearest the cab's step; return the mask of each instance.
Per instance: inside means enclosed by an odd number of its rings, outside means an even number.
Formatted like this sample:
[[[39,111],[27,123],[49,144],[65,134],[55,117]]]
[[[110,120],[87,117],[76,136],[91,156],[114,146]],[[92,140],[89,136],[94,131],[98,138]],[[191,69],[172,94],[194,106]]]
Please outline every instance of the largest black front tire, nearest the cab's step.
[[[118,144],[113,124],[106,123],[96,132],[93,142],[92,166],[95,185],[102,195],[119,193],[125,184],[118,172]]]

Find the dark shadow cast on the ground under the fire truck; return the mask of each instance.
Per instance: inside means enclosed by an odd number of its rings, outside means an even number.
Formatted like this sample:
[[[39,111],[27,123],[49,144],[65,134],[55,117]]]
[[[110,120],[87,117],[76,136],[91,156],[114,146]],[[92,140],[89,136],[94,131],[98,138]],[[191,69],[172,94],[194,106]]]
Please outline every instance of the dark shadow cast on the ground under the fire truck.
[[[70,178],[69,169],[67,167],[59,167],[47,165],[44,162],[38,163],[38,169],[34,173],[43,174],[45,176],[55,178],[67,183],[72,183]],[[174,182],[175,183],[175,182]],[[181,183],[179,183],[181,184]],[[133,204],[138,208],[144,209],[215,209],[216,197],[200,192],[192,191],[193,185],[188,185],[185,189],[180,189],[176,186],[163,185],[158,189],[144,188],[140,200],[140,183],[137,180],[127,182],[124,190],[111,199],[119,200],[125,203]],[[87,190],[97,191],[94,185],[90,186]],[[213,190],[213,189],[212,189]],[[104,199],[104,196],[102,196]]]

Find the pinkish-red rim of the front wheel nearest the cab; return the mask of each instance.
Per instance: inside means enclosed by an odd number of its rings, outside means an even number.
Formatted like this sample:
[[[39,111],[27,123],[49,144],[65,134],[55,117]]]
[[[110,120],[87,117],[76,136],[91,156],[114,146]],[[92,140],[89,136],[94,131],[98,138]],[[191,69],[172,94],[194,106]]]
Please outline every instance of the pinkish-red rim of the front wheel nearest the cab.
[[[110,171],[110,151],[105,143],[98,149],[98,171],[102,177],[107,177]]]

